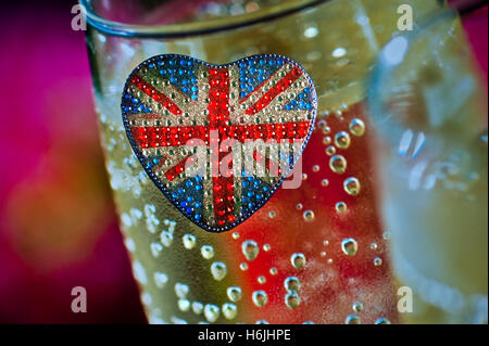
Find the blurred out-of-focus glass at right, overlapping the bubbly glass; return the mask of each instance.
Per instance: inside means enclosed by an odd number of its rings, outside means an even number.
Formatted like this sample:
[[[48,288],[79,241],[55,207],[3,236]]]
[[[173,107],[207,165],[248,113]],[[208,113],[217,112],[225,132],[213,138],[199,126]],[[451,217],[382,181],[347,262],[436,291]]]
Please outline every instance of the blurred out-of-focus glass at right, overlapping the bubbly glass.
[[[368,97],[396,277],[415,323],[487,323],[487,84],[457,14],[393,38]]]

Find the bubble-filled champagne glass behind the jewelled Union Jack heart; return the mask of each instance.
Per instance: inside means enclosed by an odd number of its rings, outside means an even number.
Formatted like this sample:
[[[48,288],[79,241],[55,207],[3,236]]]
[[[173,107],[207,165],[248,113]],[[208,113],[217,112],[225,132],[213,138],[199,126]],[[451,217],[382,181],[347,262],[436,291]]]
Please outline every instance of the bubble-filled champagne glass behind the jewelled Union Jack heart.
[[[442,1],[82,0],[101,142],[125,245],[151,323],[398,322],[389,236],[363,112],[366,76],[398,31]],[[173,53],[214,64],[281,54],[311,76],[317,121],[301,185],[225,233],[184,217],[148,178],[122,121],[129,73]]]

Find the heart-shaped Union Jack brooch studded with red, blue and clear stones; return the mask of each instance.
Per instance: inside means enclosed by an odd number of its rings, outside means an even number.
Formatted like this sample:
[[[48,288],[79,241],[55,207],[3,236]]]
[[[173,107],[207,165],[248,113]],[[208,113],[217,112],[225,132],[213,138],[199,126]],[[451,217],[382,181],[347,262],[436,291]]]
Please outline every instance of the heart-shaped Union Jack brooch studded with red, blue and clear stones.
[[[130,73],[122,95],[146,172],[211,232],[236,227],[272,197],[302,154],[316,110],[311,78],[275,54],[227,65],[156,55]]]

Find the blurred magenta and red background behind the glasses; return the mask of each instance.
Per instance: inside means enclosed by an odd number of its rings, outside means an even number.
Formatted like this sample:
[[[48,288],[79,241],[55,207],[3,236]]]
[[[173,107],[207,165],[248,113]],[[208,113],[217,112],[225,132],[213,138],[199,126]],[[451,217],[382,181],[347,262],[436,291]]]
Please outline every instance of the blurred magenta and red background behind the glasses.
[[[145,323],[99,148],[72,0],[0,14],[0,323]],[[465,28],[487,80],[487,7]],[[7,80],[5,80],[7,77]],[[71,290],[87,289],[87,313]]]

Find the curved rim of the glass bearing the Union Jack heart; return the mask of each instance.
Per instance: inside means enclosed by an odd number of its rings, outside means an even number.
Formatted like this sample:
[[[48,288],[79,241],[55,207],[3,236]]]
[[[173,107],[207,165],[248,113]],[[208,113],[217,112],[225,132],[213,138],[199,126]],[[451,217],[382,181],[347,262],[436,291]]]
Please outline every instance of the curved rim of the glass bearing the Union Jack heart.
[[[95,12],[91,5],[92,0],[79,0],[79,3],[84,8],[87,23],[103,34],[128,38],[178,38],[246,27],[287,16],[329,1],[333,0],[287,0],[284,3],[276,3],[250,13],[167,25],[140,25],[111,21]]]

